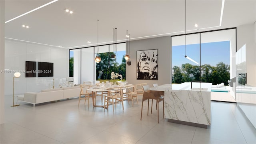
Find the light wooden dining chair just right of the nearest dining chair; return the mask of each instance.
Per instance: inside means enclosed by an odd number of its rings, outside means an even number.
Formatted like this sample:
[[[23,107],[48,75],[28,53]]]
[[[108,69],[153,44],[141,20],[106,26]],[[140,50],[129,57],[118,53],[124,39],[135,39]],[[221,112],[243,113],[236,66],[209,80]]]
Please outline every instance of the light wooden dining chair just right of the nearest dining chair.
[[[132,101],[132,106],[133,106],[133,100],[137,99],[137,104],[138,102],[138,96],[137,96],[137,85],[131,85],[131,86],[126,86],[126,92],[124,92],[124,99],[129,101]]]

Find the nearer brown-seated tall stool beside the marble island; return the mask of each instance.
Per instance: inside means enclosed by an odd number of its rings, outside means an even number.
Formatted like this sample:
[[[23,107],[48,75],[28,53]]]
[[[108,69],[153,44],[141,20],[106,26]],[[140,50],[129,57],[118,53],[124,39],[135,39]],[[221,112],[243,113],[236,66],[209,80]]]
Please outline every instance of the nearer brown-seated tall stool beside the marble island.
[[[144,93],[142,97],[140,120],[142,119],[143,102],[145,100],[148,100],[148,108],[149,108],[149,100],[154,99],[156,100],[156,104],[157,104],[157,122],[159,123],[159,102],[163,102],[163,114],[164,114],[164,97],[162,97],[161,94],[157,91],[150,91],[148,85],[143,86],[143,89],[144,89]]]

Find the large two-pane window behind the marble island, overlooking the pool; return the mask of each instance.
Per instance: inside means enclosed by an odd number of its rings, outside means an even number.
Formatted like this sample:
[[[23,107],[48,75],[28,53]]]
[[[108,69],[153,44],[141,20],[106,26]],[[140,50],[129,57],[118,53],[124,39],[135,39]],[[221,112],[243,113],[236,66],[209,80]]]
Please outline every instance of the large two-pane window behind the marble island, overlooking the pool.
[[[235,76],[235,29],[172,36],[172,83],[224,83]],[[187,58],[185,58],[185,55]]]

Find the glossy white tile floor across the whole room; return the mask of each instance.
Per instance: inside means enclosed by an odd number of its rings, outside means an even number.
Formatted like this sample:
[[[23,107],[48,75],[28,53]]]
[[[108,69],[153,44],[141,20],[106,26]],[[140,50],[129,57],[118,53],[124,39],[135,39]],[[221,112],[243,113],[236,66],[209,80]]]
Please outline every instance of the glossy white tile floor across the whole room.
[[[144,104],[140,121],[139,104],[124,102],[104,112],[90,108],[78,99],[37,104],[12,105],[12,96],[5,97],[6,123],[1,124],[1,144],[256,144],[256,129],[236,104],[212,102],[212,124],[197,128],[167,122],[157,124],[157,111],[147,116]],[[100,100],[97,100],[100,104]],[[155,108],[155,104],[153,104]],[[162,106],[160,105],[160,108]]]

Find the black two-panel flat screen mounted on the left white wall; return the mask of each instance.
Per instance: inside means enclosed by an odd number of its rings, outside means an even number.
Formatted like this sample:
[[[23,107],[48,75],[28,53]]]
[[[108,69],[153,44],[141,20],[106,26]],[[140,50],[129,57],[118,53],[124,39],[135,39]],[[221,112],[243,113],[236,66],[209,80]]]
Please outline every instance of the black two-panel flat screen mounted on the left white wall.
[[[26,61],[26,77],[51,77],[53,76],[52,62]]]

